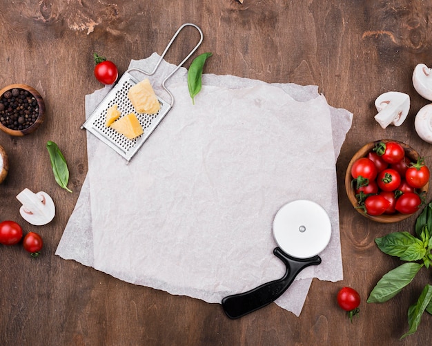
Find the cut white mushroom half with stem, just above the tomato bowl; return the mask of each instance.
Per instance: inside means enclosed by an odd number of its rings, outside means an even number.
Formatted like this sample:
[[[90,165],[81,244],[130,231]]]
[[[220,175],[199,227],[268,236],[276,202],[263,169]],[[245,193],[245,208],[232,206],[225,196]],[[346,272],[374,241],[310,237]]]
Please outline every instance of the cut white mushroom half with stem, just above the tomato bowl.
[[[400,126],[408,115],[409,105],[409,95],[397,91],[384,93],[375,99],[375,107],[378,111],[375,120],[382,128],[390,124]]]

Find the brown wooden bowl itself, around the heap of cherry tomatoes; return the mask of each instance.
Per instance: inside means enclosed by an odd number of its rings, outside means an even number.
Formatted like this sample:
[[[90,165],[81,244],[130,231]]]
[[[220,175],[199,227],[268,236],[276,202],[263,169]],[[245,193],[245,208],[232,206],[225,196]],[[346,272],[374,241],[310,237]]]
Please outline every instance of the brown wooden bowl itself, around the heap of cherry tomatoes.
[[[346,190],[346,194],[348,195],[348,199],[350,200],[351,204],[353,204],[355,210],[357,210],[360,214],[362,214],[366,218],[369,218],[373,221],[389,224],[392,222],[399,222],[399,221],[405,220],[406,218],[409,218],[413,214],[402,214],[402,213],[397,213],[397,212],[394,214],[383,214],[383,215],[378,215],[378,216],[365,214],[362,209],[357,208],[357,206],[358,206],[357,198],[355,198],[355,191],[351,187],[351,181],[353,180],[353,177],[351,176],[351,168],[352,168],[354,162],[357,159],[360,159],[360,157],[367,156],[368,153],[371,152],[373,148],[375,148],[375,145],[380,143],[380,142],[384,142],[384,143],[397,142],[397,143],[399,143],[405,150],[405,156],[408,157],[412,162],[417,162],[418,158],[420,157],[418,152],[415,151],[413,148],[411,148],[411,146],[404,144],[402,142],[395,141],[395,140],[379,140],[379,141],[368,143],[368,144],[364,145],[362,148],[360,148],[360,150],[357,151],[357,153],[355,153],[355,155],[353,156],[353,158],[351,159],[351,161],[348,164],[348,168],[346,169],[346,173],[345,173],[345,190]],[[420,189],[420,192],[424,191],[425,193],[427,193],[428,190],[429,190],[429,182],[425,186],[423,186],[422,189]]]

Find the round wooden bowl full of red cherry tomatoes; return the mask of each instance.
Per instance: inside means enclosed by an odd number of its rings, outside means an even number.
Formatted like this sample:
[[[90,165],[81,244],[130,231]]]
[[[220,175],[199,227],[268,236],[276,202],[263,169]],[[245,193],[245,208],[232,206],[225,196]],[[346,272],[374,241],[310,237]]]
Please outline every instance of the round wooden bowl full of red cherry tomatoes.
[[[379,140],[360,148],[348,164],[345,189],[354,208],[376,222],[409,218],[429,190],[429,167],[411,146]]]

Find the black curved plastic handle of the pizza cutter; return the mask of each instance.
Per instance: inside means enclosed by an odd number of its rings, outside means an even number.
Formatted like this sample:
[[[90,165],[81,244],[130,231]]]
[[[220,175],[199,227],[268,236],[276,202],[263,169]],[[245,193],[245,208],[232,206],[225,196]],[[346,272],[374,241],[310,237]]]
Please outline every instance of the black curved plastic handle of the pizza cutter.
[[[274,255],[282,260],[286,272],[282,278],[240,294],[233,294],[222,299],[222,307],[229,318],[239,318],[257,309],[261,309],[282,296],[300,271],[310,265],[319,265],[320,256],[295,258],[284,253],[279,247],[273,250]]]

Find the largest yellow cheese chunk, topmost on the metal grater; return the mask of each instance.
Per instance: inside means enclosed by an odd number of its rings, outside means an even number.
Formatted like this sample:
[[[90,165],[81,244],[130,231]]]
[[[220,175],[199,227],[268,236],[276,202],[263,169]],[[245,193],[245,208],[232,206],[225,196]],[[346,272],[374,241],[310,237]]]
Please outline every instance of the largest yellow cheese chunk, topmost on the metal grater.
[[[128,98],[138,113],[155,114],[161,108],[148,78],[132,86],[128,91]]]

